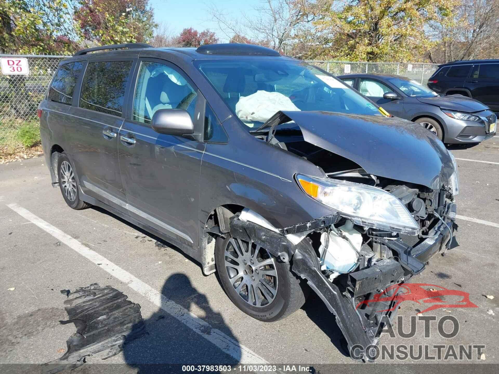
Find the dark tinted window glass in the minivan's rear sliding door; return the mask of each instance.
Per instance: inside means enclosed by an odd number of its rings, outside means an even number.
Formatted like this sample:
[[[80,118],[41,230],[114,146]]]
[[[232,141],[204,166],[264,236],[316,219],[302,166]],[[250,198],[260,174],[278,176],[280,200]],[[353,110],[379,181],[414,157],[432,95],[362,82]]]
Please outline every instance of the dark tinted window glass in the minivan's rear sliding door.
[[[89,62],[80,95],[80,108],[121,117],[132,61]]]

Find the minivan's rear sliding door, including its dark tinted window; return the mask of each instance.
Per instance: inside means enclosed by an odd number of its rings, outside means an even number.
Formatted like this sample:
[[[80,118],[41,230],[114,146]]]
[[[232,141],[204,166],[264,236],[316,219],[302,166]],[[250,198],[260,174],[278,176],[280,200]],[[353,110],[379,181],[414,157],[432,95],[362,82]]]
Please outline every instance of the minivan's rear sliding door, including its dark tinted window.
[[[69,111],[66,137],[80,187],[114,208],[126,211],[118,162],[118,132],[134,61],[87,64],[78,104]]]

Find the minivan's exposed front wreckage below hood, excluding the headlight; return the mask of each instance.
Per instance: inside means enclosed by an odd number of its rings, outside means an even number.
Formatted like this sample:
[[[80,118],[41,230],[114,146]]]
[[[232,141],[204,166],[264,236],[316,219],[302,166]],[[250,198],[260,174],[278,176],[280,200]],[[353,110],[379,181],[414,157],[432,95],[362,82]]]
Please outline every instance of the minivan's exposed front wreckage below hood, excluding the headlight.
[[[336,316],[349,351],[360,345],[367,352],[378,343],[398,309],[394,307],[397,287],[390,286],[407,282],[424,270],[433,255],[445,253],[457,227],[450,187],[433,192],[405,185],[385,188],[415,217],[416,233],[362,226],[354,223],[362,220],[342,212],[283,228],[273,227],[249,209],[231,218],[233,237],[264,246],[307,281]],[[367,302],[380,293],[383,300]]]

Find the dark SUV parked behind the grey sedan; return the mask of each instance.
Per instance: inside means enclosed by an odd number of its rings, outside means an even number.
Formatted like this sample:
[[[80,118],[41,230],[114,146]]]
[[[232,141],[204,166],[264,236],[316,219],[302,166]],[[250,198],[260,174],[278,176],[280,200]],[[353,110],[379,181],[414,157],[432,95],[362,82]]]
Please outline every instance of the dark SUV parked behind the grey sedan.
[[[455,61],[438,66],[428,87],[442,95],[461,94],[499,112],[499,60]]]

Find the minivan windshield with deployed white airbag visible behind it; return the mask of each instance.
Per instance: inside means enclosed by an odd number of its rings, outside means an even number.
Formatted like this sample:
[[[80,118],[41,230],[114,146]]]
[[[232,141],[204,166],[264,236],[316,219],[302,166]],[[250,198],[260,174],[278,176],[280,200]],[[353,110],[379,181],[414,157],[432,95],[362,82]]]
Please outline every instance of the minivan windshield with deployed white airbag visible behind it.
[[[195,65],[250,129],[279,110],[381,115],[348,85],[304,62],[200,60]]]

